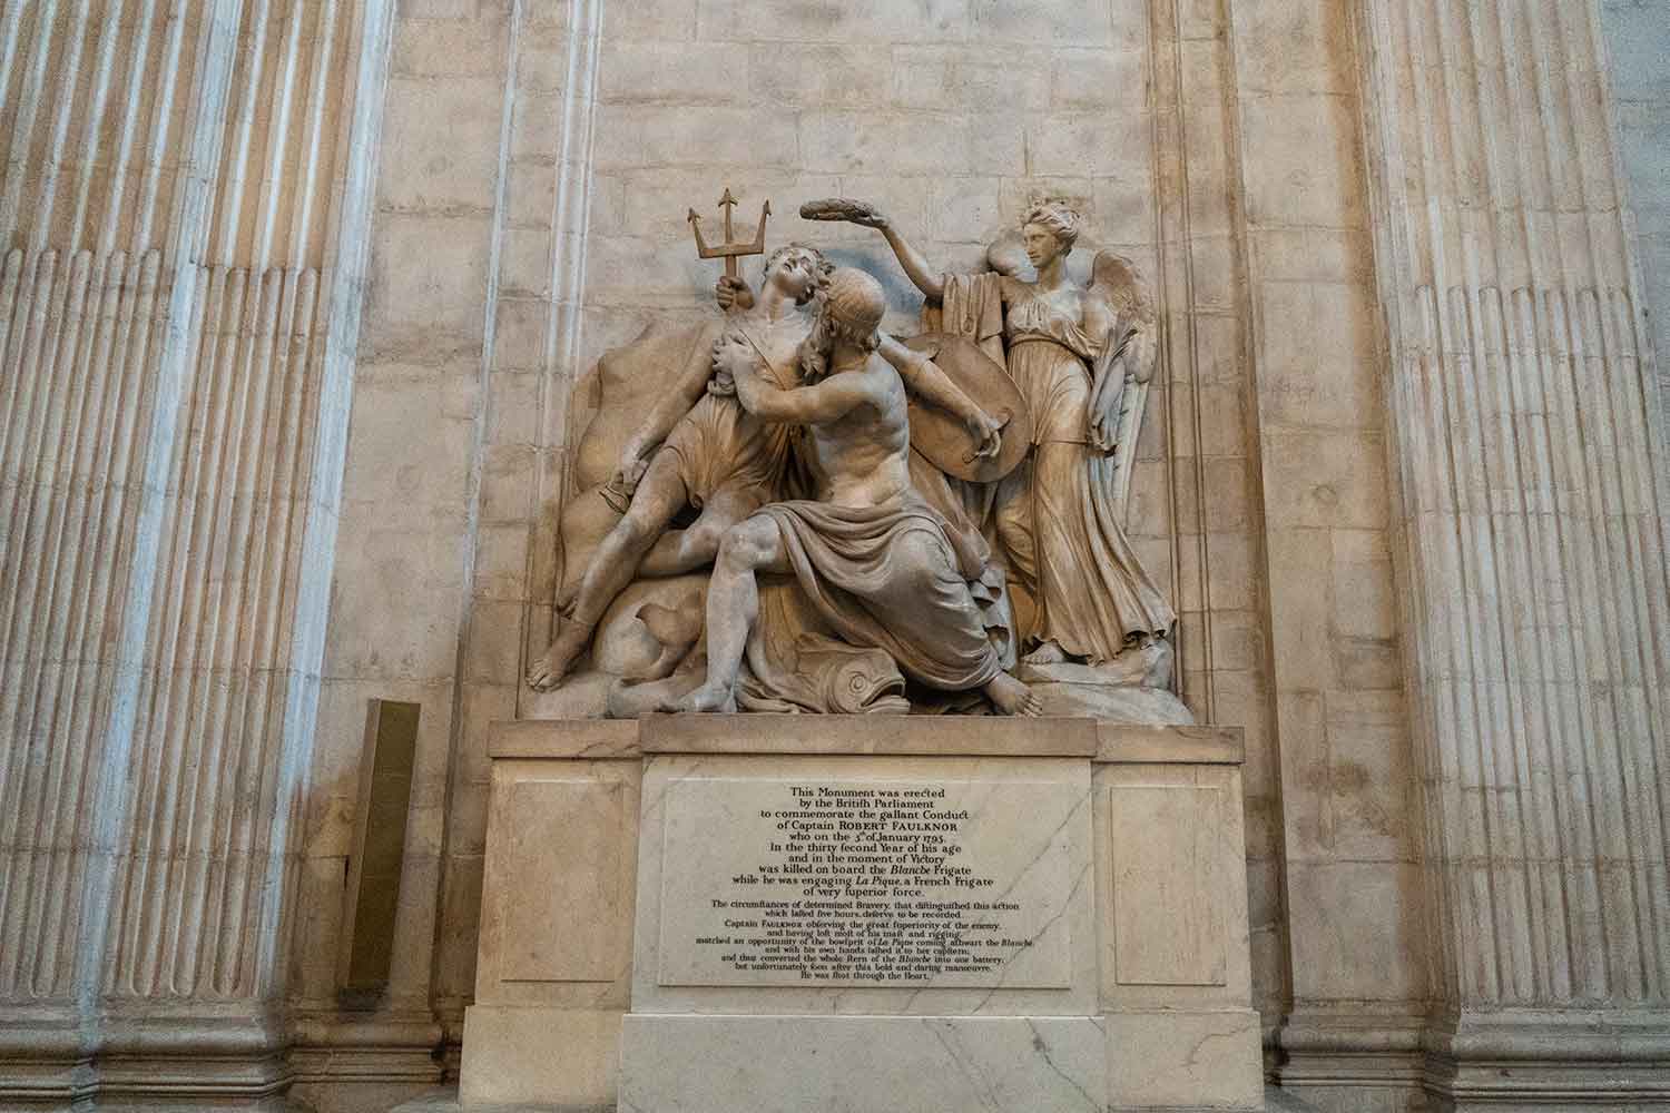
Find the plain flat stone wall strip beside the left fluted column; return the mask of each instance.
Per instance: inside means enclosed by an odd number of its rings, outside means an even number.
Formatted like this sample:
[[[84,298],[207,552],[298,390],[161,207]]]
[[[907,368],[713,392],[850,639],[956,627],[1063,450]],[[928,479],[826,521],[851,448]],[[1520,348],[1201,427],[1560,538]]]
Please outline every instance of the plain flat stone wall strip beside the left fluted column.
[[[402,3],[391,35],[294,939],[292,1001],[307,1018],[299,1093],[309,1098],[336,1093],[344,1076],[364,1078],[374,1095],[436,1080],[436,953],[474,936],[473,914],[441,923],[438,909],[444,853],[469,844],[468,834],[449,841],[446,816],[488,421],[483,337],[494,289],[506,8]],[[414,703],[419,719],[399,899],[382,926],[392,938],[387,986],[369,1008],[347,1011],[337,954],[354,928],[342,891],[362,821],[371,699]]]

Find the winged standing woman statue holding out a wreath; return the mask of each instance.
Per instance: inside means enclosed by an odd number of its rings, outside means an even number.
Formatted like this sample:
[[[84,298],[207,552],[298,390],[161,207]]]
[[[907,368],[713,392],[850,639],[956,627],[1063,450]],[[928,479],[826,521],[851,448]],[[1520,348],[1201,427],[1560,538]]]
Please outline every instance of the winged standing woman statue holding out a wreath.
[[[1019,237],[994,244],[992,270],[982,274],[937,272],[862,202],[810,202],[802,215],[882,232],[939,310],[940,330],[1000,359],[1025,397],[1032,449],[994,497],[1010,577],[1034,606],[1025,661],[1102,664],[1166,637],[1176,614],[1124,529],[1131,454],[1156,362],[1154,314],[1129,260],[1099,252],[1091,282],[1077,282],[1067,259],[1080,219],[1055,202],[1032,209]],[[1035,277],[1022,277],[1015,247]]]

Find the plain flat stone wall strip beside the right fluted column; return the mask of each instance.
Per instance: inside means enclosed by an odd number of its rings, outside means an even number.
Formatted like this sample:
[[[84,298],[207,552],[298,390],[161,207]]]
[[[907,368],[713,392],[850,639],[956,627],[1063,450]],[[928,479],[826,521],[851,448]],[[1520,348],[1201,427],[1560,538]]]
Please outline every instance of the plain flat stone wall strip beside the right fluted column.
[[[1361,47],[1349,5],[1326,0],[1236,0],[1227,35],[1251,260],[1291,1068],[1309,1046],[1334,1046],[1341,1030],[1413,1040],[1426,1001],[1423,888],[1398,672]],[[1351,1081],[1339,1108],[1373,1108],[1406,1086]]]

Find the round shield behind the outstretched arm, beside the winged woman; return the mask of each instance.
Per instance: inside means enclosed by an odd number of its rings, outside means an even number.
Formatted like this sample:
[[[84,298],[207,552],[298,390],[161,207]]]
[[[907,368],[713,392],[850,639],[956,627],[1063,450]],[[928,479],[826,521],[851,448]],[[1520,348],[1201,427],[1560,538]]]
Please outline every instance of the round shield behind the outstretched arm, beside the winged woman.
[[[1004,422],[1002,449],[997,456],[980,459],[975,457],[974,437],[960,419],[912,397],[910,446],[957,479],[995,482],[1012,472],[1032,447],[1032,414],[1004,365],[974,340],[945,332],[924,332],[902,344],[932,359],[975,405]]]

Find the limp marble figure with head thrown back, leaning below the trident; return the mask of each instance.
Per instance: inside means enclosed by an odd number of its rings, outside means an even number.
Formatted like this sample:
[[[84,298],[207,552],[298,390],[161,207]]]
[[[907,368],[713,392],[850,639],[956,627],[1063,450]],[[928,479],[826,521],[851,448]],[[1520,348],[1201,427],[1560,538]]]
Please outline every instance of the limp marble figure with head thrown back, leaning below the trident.
[[[810,327],[800,310],[827,282],[828,265],[812,247],[788,245],[765,264],[760,297],[721,279],[723,324],[710,330],[738,337],[780,387],[800,380],[798,352]],[[745,337],[745,339],[743,339]],[[528,671],[528,684],[549,691],[586,651],[591,632],[615,597],[640,576],[678,576],[713,561],[726,531],[778,497],[788,469],[788,427],[760,421],[746,400],[731,397],[726,375],[713,375],[713,349],[698,340],[678,369],[665,399],[633,432],[621,452],[616,487],[631,492],[625,517],[615,524],[586,566],[571,609],[556,639]],[[974,404],[925,355],[883,337],[880,354],[924,400],[955,414],[969,427],[980,456],[994,456],[1000,422]],[[686,506],[696,521],[668,531]],[[559,601],[559,604],[564,601]]]

